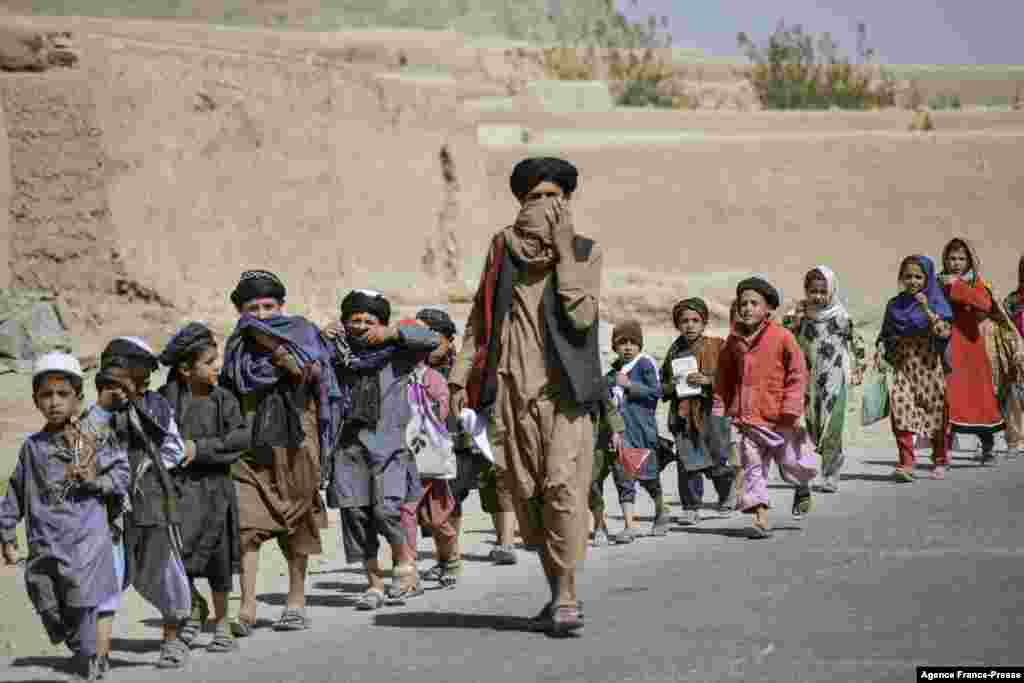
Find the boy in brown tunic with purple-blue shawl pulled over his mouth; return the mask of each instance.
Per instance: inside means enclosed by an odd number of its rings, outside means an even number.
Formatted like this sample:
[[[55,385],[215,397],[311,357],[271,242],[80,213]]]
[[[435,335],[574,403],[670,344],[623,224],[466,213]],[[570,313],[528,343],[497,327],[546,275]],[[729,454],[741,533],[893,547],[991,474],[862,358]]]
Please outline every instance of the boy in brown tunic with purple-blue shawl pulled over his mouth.
[[[288,597],[273,629],[310,628],[306,572],[327,528],[322,462],[336,442],[341,392],[331,349],[315,325],[284,314],[286,294],[272,272],[247,270],[230,297],[239,323],[224,344],[220,384],[253,418],[252,447],[232,467],[242,545],[237,637],[250,636],[256,624],[259,550],[270,540],[288,561]]]

